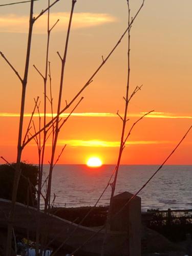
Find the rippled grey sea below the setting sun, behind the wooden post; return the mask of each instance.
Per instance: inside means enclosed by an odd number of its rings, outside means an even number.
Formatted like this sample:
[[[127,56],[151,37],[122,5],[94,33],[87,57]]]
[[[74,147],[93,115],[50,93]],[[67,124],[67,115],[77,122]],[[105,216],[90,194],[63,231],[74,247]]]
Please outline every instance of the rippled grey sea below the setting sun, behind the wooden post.
[[[156,172],[159,165],[121,165],[115,195],[135,194]],[[87,165],[55,165],[52,200],[61,207],[93,206],[109,183],[115,165],[90,168]],[[44,166],[44,179],[49,165]],[[142,211],[192,208],[192,165],[165,165],[139,193]],[[97,205],[109,205],[109,185]]]

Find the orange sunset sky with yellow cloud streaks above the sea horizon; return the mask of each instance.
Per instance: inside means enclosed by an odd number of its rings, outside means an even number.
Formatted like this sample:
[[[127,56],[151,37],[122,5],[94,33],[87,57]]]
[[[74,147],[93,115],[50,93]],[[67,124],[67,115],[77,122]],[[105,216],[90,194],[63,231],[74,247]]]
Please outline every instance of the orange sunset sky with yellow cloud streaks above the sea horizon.
[[[0,5],[20,0],[0,0]],[[34,2],[34,16],[47,7],[47,0]],[[52,3],[53,1],[51,1]],[[141,0],[131,1],[132,16]],[[30,4],[0,7],[0,51],[21,76],[24,73]],[[56,113],[60,59],[66,40],[71,0],[60,0],[51,9],[50,22],[59,23],[51,33],[50,57],[53,103]],[[160,164],[192,124],[192,2],[190,0],[146,0],[131,30],[131,88],[143,84],[129,105],[127,132],[148,111],[127,141],[123,164]],[[34,98],[43,106],[43,82],[37,71],[45,72],[47,14],[34,24],[30,72],[25,106],[25,128],[34,108]],[[73,98],[106,57],[127,27],[126,0],[77,0],[73,17],[65,71],[62,106]],[[16,160],[17,131],[22,86],[5,60],[0,57],[0,152],[9,162]],[[67,144],[58,163],[86,163],[98,156],[104,164],[118,157],[127,79],[127,36],[83,91],[84,99],[58,138],[56,157]],[[49,86],[49,83],[48,83]],[[77,102],[77,101],[76,101]],[[75,104],[74,104],[75,105]],[[74,105],[70,111],[73,109]],[[50,112],[50,106],[48,106]],[[63,114],[63,118],[68,116]],[[48,115],[48,120],[50,115]],[[38,115],[34,116],[38,123]],[[167,164],[192,164],[192,131]],[[45,163],[51,154],[46,147]],[[23,160],[37,163],[37,146],[30,142]],[[1,160],[1,163],[4,161]]]

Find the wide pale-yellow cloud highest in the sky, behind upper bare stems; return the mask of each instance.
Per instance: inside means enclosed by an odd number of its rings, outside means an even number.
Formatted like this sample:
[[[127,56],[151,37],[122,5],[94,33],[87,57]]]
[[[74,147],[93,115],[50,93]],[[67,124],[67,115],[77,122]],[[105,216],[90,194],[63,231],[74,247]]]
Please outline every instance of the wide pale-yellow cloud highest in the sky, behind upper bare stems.
[[[34,15],[36,16],[36,15]],[[70,13],[57,12],[50,15],[50,26],[55,24],[57,19],[59,23],[54,28],[54,32],[67,30]],[[72,29],[89,28],[101,26],[104,24],[117,22],[117,18],[106,13],[74,13]],[[1,15],[0,31],[12,33],[28,33],[29,17],[18,16],[15,14]],[[47,16],[43,15],[40,20],[37,20],[34,26],[34,33],[47,33]]]

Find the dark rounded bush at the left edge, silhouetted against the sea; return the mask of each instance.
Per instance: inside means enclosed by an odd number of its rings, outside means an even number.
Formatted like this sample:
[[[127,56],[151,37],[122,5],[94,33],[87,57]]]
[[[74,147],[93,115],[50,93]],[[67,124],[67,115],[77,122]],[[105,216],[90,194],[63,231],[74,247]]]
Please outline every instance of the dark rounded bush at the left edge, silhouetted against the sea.
[[[0,198],[11,200],[16,163],[0,165]],[[17,202],[36,205],[35,186],[38,182],[38,167],[25,162],[21,163],[22,176],[18,184]]]

